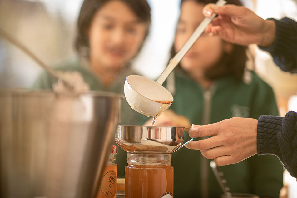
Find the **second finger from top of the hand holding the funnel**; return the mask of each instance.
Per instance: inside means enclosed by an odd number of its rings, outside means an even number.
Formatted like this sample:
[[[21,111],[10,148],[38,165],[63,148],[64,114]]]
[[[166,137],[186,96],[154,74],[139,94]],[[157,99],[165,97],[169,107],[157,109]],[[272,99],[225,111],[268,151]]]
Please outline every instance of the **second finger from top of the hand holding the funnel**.
[[[198,141],[191,141],[189,144],[186,145],[188,149],[195,149],[195,150],[207,150],[217,146],[221,146],[222,141],[221,138],[218,136],[212,136],[207,139],[198,140]]]

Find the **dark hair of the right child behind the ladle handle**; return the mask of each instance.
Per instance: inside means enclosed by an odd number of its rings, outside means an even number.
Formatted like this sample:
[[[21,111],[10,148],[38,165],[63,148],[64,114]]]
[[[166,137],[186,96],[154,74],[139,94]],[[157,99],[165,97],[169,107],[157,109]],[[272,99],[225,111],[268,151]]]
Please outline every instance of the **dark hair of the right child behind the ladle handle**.
[[[189,0],[181,0],[181,4]],[[208,3],[216,3],[217,0],[192,0],[196,3],[206,5]],[[242,6],[239,0],[226,0],[228,4],[235,4]],[[225,41],[224,41],[225,42]],[[242,76],[245,70],[245,62],[247,60],[245,46],[233,44],[233,49],[230,53],[223,52],[221,59],[207,71],[204,75],[210,80],[215,80],[223,76],[235,76],[236,79],[242,80]],[[174,50],[174,45],[171,47],[171,58],[174,57],[176,51]],[[179,65],[179,68],[180,65]]]

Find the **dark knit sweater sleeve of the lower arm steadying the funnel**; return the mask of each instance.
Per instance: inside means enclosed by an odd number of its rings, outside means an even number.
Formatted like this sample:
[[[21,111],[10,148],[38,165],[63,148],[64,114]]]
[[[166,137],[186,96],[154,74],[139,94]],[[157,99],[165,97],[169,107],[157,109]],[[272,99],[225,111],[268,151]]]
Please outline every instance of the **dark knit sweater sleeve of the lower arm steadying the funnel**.
[[[297,178],[297,113],[286,116],[260,116],[257,126],[258,154],[274,154]]]

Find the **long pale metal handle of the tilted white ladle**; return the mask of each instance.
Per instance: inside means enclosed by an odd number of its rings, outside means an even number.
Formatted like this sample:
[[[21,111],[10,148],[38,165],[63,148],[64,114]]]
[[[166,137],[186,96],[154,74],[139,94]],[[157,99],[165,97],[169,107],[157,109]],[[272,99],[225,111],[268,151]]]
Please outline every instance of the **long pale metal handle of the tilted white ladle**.
[[[219,0],[215,5],[223,6],[226,4],[226,1]],[[181,47],[181,49],[176,53],[176,55],[170,60],[168,66],[161,73],[160,77],[156,80],[160,85],[166,80],[169,74],[174,70],[176,65],[181,61],[181,59],[186,55],[186,53],[190,50],[190,48],[194,45],[197,39],[204,32],[205,28],[210,24],[210,22],[215,18],[216,14],[214,13],[211,17],[205,17],[203,21],[199,24],[199,26],[192,33],[190,38],[185,42],[185,44]]]

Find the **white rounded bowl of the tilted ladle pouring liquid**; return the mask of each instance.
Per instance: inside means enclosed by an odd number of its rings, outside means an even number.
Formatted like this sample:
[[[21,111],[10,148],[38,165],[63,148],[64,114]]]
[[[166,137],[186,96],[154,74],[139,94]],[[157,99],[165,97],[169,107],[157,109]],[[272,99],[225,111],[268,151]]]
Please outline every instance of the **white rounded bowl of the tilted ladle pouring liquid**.
[[[173,102],[173,96],[165,87],[138,75],[126,78],[124,93],[131,108],[146,116],[162,113]]]

